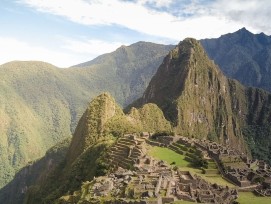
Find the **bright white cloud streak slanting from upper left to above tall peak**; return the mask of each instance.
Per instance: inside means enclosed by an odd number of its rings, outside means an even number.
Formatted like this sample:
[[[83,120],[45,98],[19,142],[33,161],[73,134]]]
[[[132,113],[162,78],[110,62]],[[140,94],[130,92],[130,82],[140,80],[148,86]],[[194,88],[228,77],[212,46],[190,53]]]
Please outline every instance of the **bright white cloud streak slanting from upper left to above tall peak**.
[[[208,15],[208,13],[200,15],[196,13],[191,18],[178,17],[170,12],[147,8],[142,1],[22,0],[22,2],[40,12],[62,16],[76,23],[119,25],[137,32],[176,41],[187,36],[218,37],[225,30],[220,30],[220,28],[227,27],[227,31],[235,31],[242,27],[239,23],[230,22],[223,17]],[[163,5],[166,1],[159,2],[160,5]]]

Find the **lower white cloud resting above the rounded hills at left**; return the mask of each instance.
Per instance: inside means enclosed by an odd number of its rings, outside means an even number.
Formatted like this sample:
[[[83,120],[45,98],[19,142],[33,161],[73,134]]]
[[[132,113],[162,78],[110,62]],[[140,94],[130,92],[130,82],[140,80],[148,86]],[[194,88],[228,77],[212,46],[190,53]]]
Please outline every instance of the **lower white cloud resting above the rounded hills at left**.
[[[56,49],[0,36],[0,64],[13,60],[37,60],[50,62],[58,67],[70,67],[89,61],[98,55],[112,52],[122,45],[120,42],[76,40],[60,36],[59,38],[62,40],[61,47]]]

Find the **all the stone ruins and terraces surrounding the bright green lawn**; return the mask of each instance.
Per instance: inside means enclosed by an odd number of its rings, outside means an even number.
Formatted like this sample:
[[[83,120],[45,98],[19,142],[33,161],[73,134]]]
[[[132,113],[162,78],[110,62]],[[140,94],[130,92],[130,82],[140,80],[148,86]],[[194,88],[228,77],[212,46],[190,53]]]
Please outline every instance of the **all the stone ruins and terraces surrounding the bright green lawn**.
[[[271,196],[271,168],[263,161],[250,160],[243,153],[208,140],[150,135],[120,137],[108,153],[113,170],[83,183],[81,191],[69,196],[69,201],[80,197],[91,203],[102,200],[108,204],[163,204],[178,200],[224,204],[236,200],[238,191]],[[204,174],[220,173],[235,187],[210,183],[198,174],[151,157],[148,148],[153,145],[185,155],[191,164],[205,161],[200,163]]]

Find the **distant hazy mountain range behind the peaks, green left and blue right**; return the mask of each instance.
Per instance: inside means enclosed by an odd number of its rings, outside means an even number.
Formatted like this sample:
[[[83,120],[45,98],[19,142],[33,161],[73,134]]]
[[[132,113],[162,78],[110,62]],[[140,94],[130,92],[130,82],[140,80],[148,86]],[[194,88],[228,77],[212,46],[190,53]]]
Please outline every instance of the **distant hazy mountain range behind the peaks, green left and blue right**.
[[[226,76],[268,91],[271,90],[270,42],[270,36],[263,33],[254,35],[244,28],[218,39],[201,40],[209,57]],[[138,42],[68,69],[59,69],[44,62],[14,61],[1,65],[0,187],[28,162],[71,137],[94,96],[108,91],[123,107],[141,97],[163,58],[174,47]],[[172,55],[174,57],[175,54]],[[171,84],[167,83],[161,85],[170,87]],[[149,90],[149,95],[151,92]],[[257,98],[260,102],[267,95],[251,91],[249,96],[252,101]],[[166,110],[165,106],[168,106],[166,117],[178,123],[175,120],[176,107],[171,109],[170,104],[165,104],[161,108]],[[257,111],[263,114],[266,109],[258,108]],[[225,119],[223,114],[221,117]],[[255,122],[260,118],[254,118],[252,114],[249,120]],[[253,138],[261,137],[260,133],[269,131],[267,126],[255,127],[258,123],[254,122],[243,130],[252,135],[248,141],[250,144],[253,144]],[[255,128],[259,131],[252,131]],[[254,155],[263,157],[256,153]]]

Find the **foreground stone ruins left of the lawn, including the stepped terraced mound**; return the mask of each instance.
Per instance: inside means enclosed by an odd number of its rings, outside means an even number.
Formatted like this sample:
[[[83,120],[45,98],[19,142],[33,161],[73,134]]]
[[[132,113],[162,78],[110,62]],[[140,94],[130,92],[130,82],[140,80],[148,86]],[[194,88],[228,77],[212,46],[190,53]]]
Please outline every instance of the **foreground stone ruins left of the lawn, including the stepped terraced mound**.
[[[84,184],[92,201],[108,198],[105,203],[231,203],[237,198],[236,190],[210,184],[147,156],[144,139],[136,135],[120,138],[112,146],[109,160],[118,166],[116,171]]]

